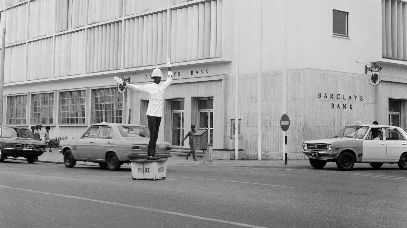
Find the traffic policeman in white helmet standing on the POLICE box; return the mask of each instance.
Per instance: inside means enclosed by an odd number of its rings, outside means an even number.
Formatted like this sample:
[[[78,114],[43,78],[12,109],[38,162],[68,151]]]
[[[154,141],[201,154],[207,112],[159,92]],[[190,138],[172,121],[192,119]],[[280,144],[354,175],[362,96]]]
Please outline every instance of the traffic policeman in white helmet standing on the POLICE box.
[[[123,82],[119,77],[114,77],[116,82],[126,86],[127,88],[137,91],[137,92],[145,92],[149,96],[149,106],[147,107],[147,120],[149,123],[150,129],[150,142],[147,151],[147,159],[149,160],[156,160],[160,159],[160,157],[155,156],[155,147],[157,144],[157,136],[158,130],[160,129],[160,123],[162,118],[162,102],[164,100],[164,90],[171,84],[173,78],[173,73],[168,71],[167,80],[164,83],[161,83],[162,73],[161,70],[155,68],[153,70],[153,74],[151,79],[153,79],[153,83],[139,86],[139,85],[132,85]]]

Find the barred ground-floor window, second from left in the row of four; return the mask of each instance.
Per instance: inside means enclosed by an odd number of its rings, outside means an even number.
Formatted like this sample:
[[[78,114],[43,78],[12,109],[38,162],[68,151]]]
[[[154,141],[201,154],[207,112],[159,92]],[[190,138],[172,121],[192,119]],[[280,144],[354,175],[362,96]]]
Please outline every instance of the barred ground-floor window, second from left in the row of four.
[[[31,124],[43,125],[54,123],[54,93],[31,95]]]

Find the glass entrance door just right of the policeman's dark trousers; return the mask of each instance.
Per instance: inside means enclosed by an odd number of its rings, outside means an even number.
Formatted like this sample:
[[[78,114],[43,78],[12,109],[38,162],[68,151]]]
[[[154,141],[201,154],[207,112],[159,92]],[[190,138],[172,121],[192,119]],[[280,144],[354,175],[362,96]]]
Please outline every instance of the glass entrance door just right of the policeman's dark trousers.
[[[172,101],[171,120],[171,144],[173,146],[183,146],[184,100]]]

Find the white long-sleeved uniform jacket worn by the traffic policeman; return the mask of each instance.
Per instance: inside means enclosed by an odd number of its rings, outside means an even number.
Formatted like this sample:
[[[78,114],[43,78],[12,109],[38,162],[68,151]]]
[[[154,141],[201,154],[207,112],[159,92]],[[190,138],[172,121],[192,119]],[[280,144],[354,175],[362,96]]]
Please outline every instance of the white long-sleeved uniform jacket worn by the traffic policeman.
[[[164,89],[166,89],[171,84],[172,80],[172,77],[168,77],[167,80],[163,83],[156,84],[153,82],[143,86],[127,83],[126,87],[137,92],[145,92],[149,95],[149,107],[147,108],[148,116],[162,116],[162,101],[164,100]]]

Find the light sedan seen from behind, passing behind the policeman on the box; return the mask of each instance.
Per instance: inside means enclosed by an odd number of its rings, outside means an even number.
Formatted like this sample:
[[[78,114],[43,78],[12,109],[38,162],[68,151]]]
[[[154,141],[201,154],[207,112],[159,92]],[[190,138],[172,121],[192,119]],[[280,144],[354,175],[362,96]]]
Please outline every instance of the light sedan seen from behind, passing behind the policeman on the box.
[[[68,168],[74,167],[76,161],[91,161],[102,168],[118,170],[131,159],[147,158],[149,136],[145,126],[98,123],[90,125],[81,138],[61,140],[59,152]],[[171,157],[170,151],[170,143],[157,140],[157,157]]]

